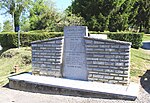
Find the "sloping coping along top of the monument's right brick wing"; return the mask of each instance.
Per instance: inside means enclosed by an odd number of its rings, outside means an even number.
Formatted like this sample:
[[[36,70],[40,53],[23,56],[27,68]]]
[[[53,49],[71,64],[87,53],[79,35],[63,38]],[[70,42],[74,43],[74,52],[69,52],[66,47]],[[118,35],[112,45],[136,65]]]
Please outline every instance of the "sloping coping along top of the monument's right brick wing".
[[[126,42],[126,41],[118,41],[118,40],[110,40],[110,39],[101,39],[101,38],[94,38],[94,37],[84,37],[85,39],[89,39],[89,40],[100,40],[100,41],[104,41],[104,42],[111,42],[111,43],[119,43],[119,44],[123,44],[123,45],[131,45],[131,42]]]

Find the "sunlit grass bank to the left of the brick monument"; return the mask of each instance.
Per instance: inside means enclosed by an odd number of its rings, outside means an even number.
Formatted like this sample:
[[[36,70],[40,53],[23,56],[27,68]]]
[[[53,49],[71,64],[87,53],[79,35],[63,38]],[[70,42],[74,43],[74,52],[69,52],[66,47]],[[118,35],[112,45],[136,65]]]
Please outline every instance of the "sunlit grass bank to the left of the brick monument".
[[[31,49],[9,49],[0,57],[0,86],[8,83],[8,76],[13,75],[14,66],[18,65],[18,73],[31,70]]]

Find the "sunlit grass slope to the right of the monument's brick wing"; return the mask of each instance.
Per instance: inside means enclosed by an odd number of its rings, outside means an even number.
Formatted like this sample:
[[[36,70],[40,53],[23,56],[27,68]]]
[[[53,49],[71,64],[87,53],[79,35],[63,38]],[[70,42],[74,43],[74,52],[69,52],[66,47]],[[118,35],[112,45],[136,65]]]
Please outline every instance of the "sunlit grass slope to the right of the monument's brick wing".
[[[150,50],[131,49],[131,81],[137,81],[147,70],[150,70]]]

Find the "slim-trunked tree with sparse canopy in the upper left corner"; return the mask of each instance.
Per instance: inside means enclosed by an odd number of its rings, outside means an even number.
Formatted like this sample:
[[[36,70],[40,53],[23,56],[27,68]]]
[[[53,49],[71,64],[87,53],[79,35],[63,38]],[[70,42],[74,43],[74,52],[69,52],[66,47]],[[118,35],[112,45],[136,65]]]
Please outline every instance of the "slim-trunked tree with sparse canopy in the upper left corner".
[[[12,15],[13,30],[17,31],[21,13],[29,6],[31,2],[32,0],[0,0],[1,8],[4,8],[6,13]]]

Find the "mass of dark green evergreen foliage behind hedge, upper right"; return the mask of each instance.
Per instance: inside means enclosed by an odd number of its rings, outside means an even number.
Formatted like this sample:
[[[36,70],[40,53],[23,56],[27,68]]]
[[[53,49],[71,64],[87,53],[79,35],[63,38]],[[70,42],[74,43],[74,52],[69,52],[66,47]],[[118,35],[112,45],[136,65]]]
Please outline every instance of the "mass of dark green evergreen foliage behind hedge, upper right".
[[[83,17],[90,30],[150,32],[150,0],[74,0],[68,10]]]

